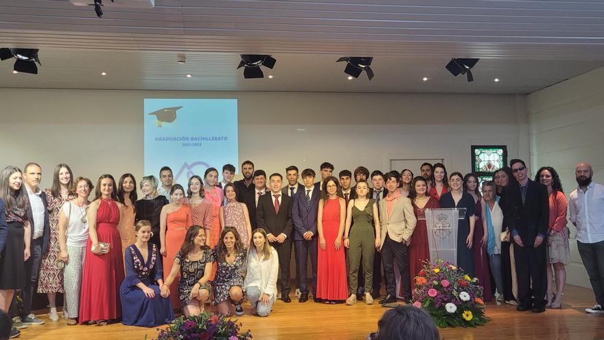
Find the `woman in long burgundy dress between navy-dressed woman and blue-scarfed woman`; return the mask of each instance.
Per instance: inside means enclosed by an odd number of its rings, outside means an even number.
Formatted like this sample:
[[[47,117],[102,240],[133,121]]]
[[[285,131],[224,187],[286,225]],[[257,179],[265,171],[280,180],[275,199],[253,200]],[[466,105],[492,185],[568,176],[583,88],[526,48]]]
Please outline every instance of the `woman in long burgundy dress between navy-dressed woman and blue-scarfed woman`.
[[[491,273],[489,270],[489,255],[487,254],[487,242],[489,232],[486,225],[483,224],[483,212],[485,211],[485,201],[483,195],[478,190],[478,177],[476,174],[466,174],[463,177],[463,190],[472,195],[476,207],[474,207],[474,237],[472,241],[472,255],[474,256],[474,275],[478,277],[478,284],[483,286],[483,299],[491,301],[493,291],[491,291]]]

